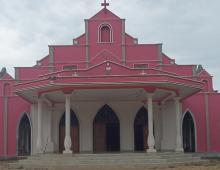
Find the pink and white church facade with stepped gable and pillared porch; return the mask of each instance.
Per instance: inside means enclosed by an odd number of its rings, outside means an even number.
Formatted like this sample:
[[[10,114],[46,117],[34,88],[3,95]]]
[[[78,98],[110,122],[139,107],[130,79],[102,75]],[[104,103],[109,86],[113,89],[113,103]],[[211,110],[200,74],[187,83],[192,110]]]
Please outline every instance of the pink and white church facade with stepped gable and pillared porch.
[[[106,8],[72,45],[0,73],[0,157],[220,152],[220,94],[201,66],[139,44]]]

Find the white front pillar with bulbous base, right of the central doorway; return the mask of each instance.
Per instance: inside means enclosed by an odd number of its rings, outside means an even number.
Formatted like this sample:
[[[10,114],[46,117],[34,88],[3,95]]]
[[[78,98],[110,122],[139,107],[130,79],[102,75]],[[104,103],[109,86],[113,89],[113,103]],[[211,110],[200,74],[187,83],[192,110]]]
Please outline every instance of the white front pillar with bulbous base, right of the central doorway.
[[[156,152],[154,148],[155,140],[154,140],[154,132],[153,132],[153,101],[152,101],[153,93],[147,94],[147,109],[148,109],[148,149],[147,152]]]

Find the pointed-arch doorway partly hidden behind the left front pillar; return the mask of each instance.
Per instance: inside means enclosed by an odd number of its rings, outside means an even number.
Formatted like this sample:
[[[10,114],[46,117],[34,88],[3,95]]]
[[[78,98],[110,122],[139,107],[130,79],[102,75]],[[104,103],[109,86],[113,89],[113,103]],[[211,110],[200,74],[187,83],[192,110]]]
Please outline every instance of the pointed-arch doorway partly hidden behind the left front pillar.
[[[64,147],[64,139],[65,139],[65,113],[60,119],[59,125],[59,152],[62,153],[65,149]],[[71,150],[73,152],[79,152],[79,121],[75,115],[75,113],[71,110],[70,112],[70,135],[72,140]]]

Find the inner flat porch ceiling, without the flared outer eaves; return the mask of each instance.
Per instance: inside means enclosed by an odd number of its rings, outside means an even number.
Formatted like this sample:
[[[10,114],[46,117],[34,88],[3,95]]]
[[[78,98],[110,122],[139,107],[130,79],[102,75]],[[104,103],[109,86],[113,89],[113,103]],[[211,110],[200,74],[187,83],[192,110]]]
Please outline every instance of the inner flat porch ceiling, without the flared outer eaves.
[[[156,90],[153,100],[159,101],[170,94],[170,91]],[[65,102],[64,94],[59,92],[47,93],[45,95],[54,103]],[[72,92],[72,101],[143,101],[146,100],[146,93],[143,89],[96,89],[96,90],[75,90]]]

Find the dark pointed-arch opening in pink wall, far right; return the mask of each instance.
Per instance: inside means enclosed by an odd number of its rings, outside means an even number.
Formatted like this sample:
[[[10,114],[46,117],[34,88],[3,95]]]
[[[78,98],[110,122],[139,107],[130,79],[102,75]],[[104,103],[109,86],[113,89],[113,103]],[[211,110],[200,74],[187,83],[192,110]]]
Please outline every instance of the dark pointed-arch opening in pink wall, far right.
[[[195,152],[195,126],[192,115],[187,112],[183,118],[184,152]]]

